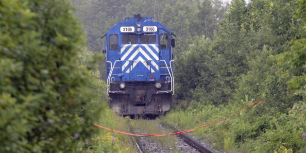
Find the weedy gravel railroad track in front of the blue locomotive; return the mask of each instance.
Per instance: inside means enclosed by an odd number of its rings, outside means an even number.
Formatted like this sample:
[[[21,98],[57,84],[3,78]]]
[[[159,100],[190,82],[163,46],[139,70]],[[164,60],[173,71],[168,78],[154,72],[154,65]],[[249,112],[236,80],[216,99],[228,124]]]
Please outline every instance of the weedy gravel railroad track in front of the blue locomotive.
[[[135,120],[134,120],[135,121]],[[136,120],[137,122],[137,120]],[[158,130],[160,133],[165,133],[168,131],[177,132],[177,130],[166,123],[159,123],[156,120],[150,120],[149,125],[156,126],[159,128]],[[150,123],[152,122],[152,123]],[[127,120],[127,124],[130,127],[131,133],[133,134],[140,134],[140,135],[147,135],[146,131],[139,130],[131,126],[130,121]],[[171,129],[171,130],[170,130]],[[170,136],[168,136],[170,137]],[[180,153],[223,153],[214,151],[211,148],[201,144],[197,140],[187,136],[186,134],[180,135],[172,135],[172,138],[164,140],[162,142],[155,141],[151,136],[134,136],[134,142],[140,153],[171,153],[171,152],[180,152]],[[175,142],[174,142],[175,141]],[[170,147],[168,144],[158,144],[158,143],[170,143]],[[173,143],[175,145],[173,145]],[[160,147],[164,146],[164,147]],[[165,147],[168,146],[168,147]]]

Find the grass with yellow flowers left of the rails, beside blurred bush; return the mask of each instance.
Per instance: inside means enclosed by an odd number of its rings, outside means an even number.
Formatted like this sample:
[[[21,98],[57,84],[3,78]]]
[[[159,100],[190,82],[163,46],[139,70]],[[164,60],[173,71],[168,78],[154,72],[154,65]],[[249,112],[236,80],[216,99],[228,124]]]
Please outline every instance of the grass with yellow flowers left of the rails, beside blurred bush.
[[[105,89],[105,88],[104,88]],[[104,93],[106,94],[106,93]],[[129,132],[129,127],[126,124],[125,119],[122,116],[110,109],[107,101],[101,103],[101,113],[99,119],[94,123],[115,129],[118,131]],[[135,153],[137,148],[131,143],[131,137],[109,131],[102,128],[97,128],[95,134],[90,139],[80,142],[79,146],[85,146],[78,151],[82,153]]]

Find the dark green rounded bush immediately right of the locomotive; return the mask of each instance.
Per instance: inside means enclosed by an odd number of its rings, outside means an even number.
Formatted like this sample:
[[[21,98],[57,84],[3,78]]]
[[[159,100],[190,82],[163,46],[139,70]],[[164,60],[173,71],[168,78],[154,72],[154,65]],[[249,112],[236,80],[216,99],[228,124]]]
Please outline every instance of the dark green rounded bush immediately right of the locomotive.
[[[176,82],[178,82],[178,96],[191,98],[194,90],[197,87],[203,87],[210,90],[210,79],[213,74],[209,72],[210,66],[210,39],[205,39],[204,36],[195,36],[194,40],[188,46],[188,50],[182,53],[175,62],[177,73],[175,74]],[[199,77],[199,76],[202,76]],[[199,93],[200,94],[200,93]],[[200,98],[200,95],[194,97]]]

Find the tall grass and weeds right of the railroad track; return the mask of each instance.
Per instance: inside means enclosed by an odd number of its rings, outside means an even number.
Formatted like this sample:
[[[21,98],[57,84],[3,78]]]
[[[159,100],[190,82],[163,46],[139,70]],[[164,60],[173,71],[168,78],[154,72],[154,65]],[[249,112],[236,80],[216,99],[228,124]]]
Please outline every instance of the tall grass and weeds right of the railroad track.
[[[188,130],[227,117],[253,100],[233,102],[228,105],[202,105],[199,109],[172,109],[161,119],[167,123]],[[216,149],[238,153],[273,153],[281,146],[294,153],[305,153],[306,104],[296,103],[287,114],[274,116],[256,114],[256,105],[237,115],[210,126],[192,131],[194,136],[202,136]]]

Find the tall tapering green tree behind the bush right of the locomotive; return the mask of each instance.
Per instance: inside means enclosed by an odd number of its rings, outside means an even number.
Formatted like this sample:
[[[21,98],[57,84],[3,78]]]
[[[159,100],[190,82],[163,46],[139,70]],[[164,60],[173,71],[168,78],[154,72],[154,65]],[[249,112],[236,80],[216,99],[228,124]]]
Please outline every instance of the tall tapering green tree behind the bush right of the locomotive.
[[[251,46],[243,24],[246,10],[243,0],[232,1],[229,12],[220,23],[218,34],[214,36],[210,64],[214,77],[210,80],[210,96],[203,99],[205,102],[217,105],[228,102],[237,88],[240,75],[248,70],[246,55]]]

